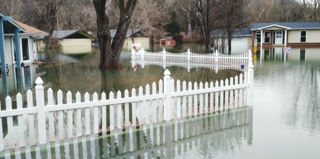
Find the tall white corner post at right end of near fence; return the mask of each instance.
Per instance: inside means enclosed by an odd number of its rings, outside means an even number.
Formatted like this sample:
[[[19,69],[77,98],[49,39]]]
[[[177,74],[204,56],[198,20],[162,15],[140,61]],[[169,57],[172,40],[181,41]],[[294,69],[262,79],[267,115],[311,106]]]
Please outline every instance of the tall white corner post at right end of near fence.
[[[247,105],[253,106],[253,64],[252,64],[252,53],[249,50],[248,60],[248,91],[247,91]]]

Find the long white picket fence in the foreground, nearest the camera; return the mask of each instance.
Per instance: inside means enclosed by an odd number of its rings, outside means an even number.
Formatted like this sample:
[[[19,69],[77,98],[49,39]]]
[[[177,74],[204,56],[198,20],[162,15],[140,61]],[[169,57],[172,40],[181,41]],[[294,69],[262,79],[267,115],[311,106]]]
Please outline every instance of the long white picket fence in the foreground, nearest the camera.
[[[38,77],[35,81],[35,104],[31,90],[26,92],[26,108],[23,108],[20,93],[16,95],[17,109],[12,109],[11,98],[6,97],[6,110],[0,111],[0,151],[252,106],[253,72],[252,57],[249,56],[248,71],[239,77],[215,83],[183,81],[181,87],[181,82],[174,81],[170,72],[165,70],[163,81],[159,81],[158,87],[153,82],[152,90],[147,84],[138,92],[133,88],[131,96],[129,90],[124,95],[118,91],[116,97],[110,92],[109,99],[105,93],[100,98],[94,93],[92,101],[89,93],[85,93],[82,99],[79,92],[73,100],[72,93],[68,91],[66,103],[63,103],[61,90],[57,91],[55,99],[53,90],[49,88],[45,98],[43,81]],[[17,116],[17,126],[13,125],[14,116]],[[7,121],[5,137],[2,118]]]

